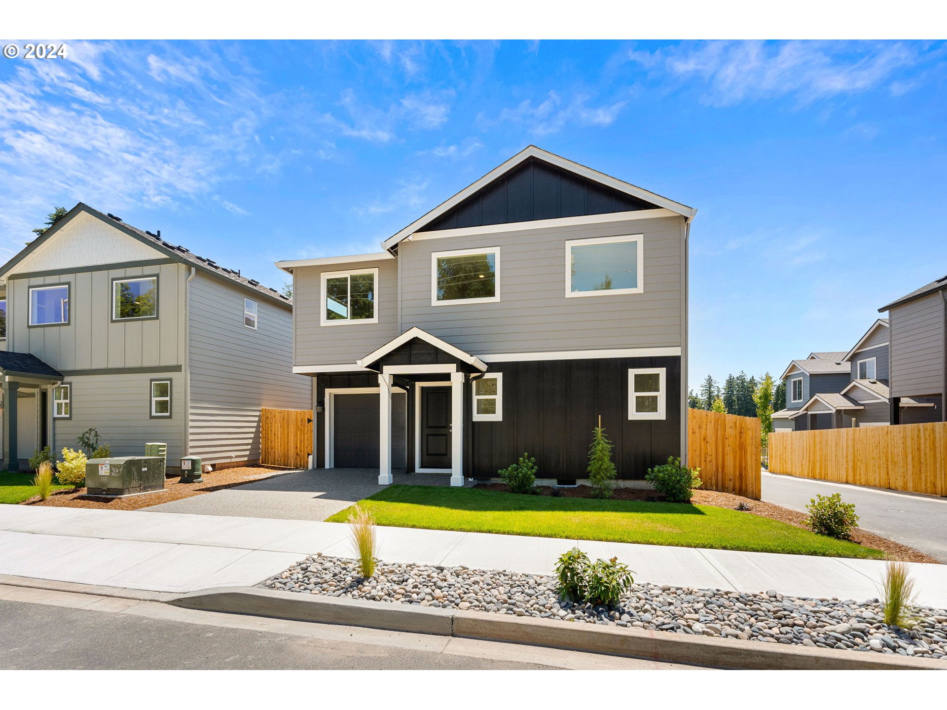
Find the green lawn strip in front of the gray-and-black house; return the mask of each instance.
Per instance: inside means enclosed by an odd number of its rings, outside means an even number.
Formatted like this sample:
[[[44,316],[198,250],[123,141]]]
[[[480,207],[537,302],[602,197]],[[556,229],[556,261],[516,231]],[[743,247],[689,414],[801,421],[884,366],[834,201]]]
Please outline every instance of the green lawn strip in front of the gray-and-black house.
[[[641,542],[724,550],[880,559],[881,550],[715,506],[516,495],[474,488],[390,486],[364,501],[396,527]],[[347,508],[329,521],[345,523]]]

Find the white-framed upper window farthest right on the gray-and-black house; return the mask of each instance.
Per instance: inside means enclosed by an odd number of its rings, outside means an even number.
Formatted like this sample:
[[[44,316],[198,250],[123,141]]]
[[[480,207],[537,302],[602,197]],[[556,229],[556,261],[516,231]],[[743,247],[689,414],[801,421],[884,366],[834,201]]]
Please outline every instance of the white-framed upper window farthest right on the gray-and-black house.
[[[565,295],[641,293],[643,235],[565,242]]]

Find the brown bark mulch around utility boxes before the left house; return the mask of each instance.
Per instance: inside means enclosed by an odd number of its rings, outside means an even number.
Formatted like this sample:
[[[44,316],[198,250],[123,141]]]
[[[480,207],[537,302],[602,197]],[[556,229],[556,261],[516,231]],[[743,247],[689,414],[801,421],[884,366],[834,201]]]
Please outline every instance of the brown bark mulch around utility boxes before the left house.
[[[128,498],[104,498],[92,496],[83,498],[85,488],[72,490],[58,490],[45,501],[39,496],[30,498],[21,503],[21,506],[57,506],[57,507],[91,507],[103,510],[140,510],[143,507],[157,506],[161,503],[179,501],[194,495],[212,493],[223,488],[233,488],[250,481],[259,481],[271,476],[278,476],[295,469],[279,469],[273,466],[244,466],[233,469],[214,470],[205,473],[204,483],[180,483],[180,476],[171,476],[165,479],[165,489],[155,490],[152,493],[129,496]]]

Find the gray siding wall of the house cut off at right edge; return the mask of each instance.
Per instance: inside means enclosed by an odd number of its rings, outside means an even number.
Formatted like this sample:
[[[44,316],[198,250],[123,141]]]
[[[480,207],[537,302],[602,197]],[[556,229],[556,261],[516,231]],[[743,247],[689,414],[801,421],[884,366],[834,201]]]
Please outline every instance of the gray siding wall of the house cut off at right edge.
[[[891,396],[939,394],[944,376],[944,302],[931,293],[897,306],[891,323]]]

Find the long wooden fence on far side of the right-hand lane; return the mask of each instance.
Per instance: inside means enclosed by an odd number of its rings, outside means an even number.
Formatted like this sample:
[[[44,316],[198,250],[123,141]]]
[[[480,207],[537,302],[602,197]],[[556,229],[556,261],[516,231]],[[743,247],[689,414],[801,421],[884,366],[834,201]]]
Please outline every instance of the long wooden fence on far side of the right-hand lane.
[[[947,422],[774,432],[769,452],[774,473],[947,495]]]

